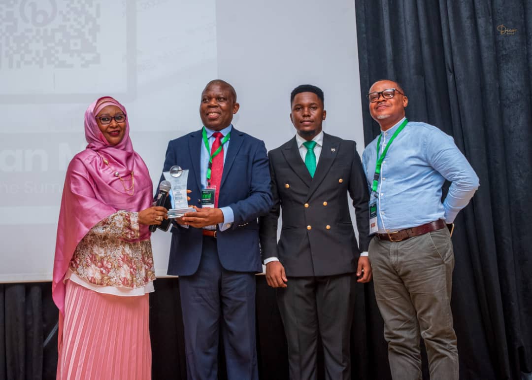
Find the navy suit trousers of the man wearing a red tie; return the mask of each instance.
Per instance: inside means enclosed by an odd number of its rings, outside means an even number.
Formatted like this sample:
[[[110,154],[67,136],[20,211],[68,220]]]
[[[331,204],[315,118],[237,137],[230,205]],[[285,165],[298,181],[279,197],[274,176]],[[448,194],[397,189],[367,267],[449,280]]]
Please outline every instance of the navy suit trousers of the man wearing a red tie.
[[[226,353],[229,380],[257,380],[255,274],[224,269],[216,240],[203,236],[200,267],[179,277],[185,327],[187,377],[218,378],[218,340]]]

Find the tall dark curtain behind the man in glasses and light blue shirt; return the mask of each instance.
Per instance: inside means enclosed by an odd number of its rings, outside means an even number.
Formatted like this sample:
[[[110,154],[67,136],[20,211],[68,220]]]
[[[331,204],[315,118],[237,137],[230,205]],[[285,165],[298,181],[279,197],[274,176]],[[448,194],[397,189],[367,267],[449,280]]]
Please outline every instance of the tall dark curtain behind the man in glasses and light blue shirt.
[[[355,6],[366,144],[379,127],[365,95],[397,80],[406,116],[452,135],[480,178],[453,235],[460,376],[519,379],[532,371],[532,2]]]

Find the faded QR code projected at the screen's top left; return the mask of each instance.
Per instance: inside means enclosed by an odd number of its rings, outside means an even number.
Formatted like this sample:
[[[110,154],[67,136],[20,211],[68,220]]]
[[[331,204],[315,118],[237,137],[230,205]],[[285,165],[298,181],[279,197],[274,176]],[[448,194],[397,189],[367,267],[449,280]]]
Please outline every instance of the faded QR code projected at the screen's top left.
[[[99,64],[100,12],[94,0],[0,0],[0,70]]]

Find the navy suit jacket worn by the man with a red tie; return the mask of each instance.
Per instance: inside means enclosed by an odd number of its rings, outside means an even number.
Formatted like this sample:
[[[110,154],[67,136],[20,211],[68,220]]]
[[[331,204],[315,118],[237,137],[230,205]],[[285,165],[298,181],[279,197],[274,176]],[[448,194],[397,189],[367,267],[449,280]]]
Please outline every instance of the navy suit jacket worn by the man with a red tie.
[[[201,207],[202,144],[201,129],[170,141],[163,168],[163,171],[169,171],[173,165],[179,165],[189,170],[187,188],[192,191],[189,204],[198,207]],[[218,200],[218,207],[230,206],[235,214],[232,226],[217,232],[218,255],[223,268],[262,271],[257,218],[267,213],[272,204],[264,142],[233,127]],[[202,254],[201,228],[174,225],[171,232],[168,274],[193,275],[200,265]]]

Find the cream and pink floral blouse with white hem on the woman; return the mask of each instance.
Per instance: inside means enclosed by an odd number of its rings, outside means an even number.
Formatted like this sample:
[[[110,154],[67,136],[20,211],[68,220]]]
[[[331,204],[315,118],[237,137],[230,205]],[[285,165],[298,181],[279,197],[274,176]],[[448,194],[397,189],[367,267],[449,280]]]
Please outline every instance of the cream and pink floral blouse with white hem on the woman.
[[[153,291],[152,245],[138,237],[138,213],[121,210],[103,219],[79,242],[67,278],[101,293]]]

